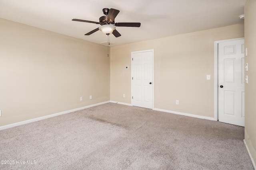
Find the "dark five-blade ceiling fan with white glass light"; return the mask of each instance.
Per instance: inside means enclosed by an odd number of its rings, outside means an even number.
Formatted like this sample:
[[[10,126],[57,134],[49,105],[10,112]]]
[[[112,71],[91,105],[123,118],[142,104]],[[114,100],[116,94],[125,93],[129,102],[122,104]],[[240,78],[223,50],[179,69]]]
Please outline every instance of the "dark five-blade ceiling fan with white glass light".
[[[91,35],[92,33],[95,33],[96,31],[100,30],[104,34],[111,34],[115,37],[120,37],[121,34],[116,30],[116,27],[140,27],[139,22],[117,22],[115,23],[115,18],[117,14],[120,12],[119,10],[116,10],[114,8],[103,8],[103,13],[105,16],[100,17],[99,22],[95,21],[87,21],[87,20],[79,20],[79,19],[73,19],[72,21],[80,21],[80,22],[88,22],[88,23],[96,23],[100,24],[101,26],[84,34],[84,35]]]

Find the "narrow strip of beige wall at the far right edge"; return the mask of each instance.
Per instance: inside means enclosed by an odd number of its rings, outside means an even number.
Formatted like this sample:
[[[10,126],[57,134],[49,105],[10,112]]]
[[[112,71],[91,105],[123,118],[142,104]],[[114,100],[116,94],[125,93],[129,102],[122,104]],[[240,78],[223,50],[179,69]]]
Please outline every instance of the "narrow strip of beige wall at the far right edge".
[[[256,162],[256,0],[245,4],[244,40],[248,49],[245,63],[248,63],[248,84],[245,84],[245,141]]]

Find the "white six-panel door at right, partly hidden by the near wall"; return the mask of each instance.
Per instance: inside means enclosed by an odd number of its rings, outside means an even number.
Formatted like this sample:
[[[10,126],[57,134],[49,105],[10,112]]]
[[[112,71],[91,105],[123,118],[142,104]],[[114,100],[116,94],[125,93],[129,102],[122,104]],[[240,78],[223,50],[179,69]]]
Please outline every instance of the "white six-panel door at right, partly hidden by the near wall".
[[[218,44],[219,121],[244,126],[244,39]]]

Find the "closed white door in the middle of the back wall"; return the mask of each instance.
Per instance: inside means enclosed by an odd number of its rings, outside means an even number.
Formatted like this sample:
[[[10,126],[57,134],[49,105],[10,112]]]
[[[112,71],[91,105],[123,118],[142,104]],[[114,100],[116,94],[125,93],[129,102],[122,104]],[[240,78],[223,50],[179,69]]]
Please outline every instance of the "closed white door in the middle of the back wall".
[[[154,51],[132,52],[132,105],[152,109]]]

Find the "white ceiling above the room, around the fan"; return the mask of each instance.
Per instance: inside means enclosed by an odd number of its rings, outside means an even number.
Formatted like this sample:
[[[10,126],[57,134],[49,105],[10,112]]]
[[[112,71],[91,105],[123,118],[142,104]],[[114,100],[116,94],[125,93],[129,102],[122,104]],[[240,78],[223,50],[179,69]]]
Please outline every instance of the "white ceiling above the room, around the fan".
[[[115,22],[140,22],[140,27],[116,27],[111,46],[168,37],[243,23],[246,0],[0,0],[0,18],[94,43],[107,41],[99,25],[72,21],[99,21],[103,8],[120,10]]]

